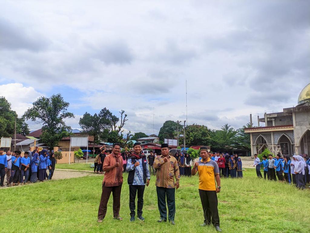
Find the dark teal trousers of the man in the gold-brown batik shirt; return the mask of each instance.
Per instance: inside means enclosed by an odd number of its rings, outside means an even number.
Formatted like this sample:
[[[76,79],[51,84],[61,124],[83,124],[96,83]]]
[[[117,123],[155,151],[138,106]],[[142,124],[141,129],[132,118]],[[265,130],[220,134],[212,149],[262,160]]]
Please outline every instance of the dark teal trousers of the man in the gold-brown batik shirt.
[[[163,187],[157,187],[157,203],[160,217],[167,220],[167,209],[166,209],[166,198],[168,206],[168,219],[169,221],[174,221],[175,218],[175,188],[168,189]]]

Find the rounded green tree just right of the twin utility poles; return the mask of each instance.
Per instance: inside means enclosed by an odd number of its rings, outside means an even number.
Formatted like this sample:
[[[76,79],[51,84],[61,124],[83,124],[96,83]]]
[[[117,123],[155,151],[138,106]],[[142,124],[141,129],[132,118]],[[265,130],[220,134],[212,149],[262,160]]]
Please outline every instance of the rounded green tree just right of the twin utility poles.
[[[210,146],[210,130],[204,125],[188,125],[185,127],[186,146]]]

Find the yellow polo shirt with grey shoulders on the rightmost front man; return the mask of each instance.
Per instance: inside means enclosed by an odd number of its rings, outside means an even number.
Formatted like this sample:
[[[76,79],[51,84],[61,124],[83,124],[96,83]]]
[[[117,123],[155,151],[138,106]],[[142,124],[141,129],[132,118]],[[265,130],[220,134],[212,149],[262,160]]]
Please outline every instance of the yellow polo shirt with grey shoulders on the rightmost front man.
[[[208,158],[206,163],[201,159],[196,170],[198,170],[199,175],[198,188],[201,190],[215,191],[215,175],[219,174],[219,166],[217,163],[210,158]]]

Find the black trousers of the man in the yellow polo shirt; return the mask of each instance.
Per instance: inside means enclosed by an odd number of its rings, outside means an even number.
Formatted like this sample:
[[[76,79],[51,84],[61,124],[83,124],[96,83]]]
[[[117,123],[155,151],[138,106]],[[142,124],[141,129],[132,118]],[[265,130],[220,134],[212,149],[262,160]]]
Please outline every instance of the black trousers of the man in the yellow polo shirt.
[[[219,211],[217,209],[217,195],[215,191],[199,189],[199,196],[203,209],[205,223],[219,226]]]

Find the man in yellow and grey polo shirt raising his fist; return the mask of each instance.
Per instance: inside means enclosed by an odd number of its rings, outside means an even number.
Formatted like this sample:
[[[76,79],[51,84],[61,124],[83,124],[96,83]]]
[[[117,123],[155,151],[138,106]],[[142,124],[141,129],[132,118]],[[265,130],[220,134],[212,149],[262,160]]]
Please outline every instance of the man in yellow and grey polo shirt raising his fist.
[[[221,232],[219,228],[219,211],[217,208],[217,195],[221,190],[221,179],[219,177],[219,166],[209,158],[206,147],[200,147],[201,160],[196,162],[192,175],[197,172],[199,175],[199,196],[201,199],[202,209],[205,221],[200,226],[210,225],[215,226],[215,230]],[[215,180],[217,187],[215,185]]]

